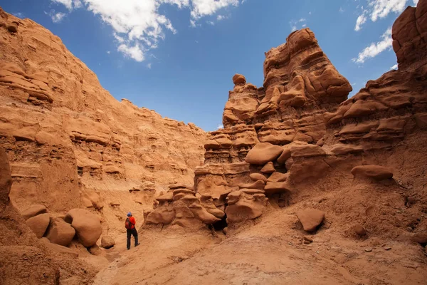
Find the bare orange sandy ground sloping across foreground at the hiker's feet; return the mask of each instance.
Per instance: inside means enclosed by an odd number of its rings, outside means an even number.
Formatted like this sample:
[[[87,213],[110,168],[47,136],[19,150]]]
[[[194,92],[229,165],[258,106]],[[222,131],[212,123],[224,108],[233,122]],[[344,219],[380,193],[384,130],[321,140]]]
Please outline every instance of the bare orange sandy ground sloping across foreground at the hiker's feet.
[[[141,245],[118,237],[112,260],[94,284],[426,284],[423,247],[409,242],[344,238],[330,224],[302,244],[292,207],[272,209],[257,224],[213,237],[173,229],[141,230]],[[386,250],[386,248],[391,248]],[[371,252],[367,252],[371,251]]]

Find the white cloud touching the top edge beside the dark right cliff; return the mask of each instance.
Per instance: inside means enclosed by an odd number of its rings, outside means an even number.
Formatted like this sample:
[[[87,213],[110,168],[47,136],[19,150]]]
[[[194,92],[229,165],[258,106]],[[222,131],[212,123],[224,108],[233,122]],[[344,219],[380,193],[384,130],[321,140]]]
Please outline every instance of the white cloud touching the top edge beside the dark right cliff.
[[[359,31],[367,19],[377,21],[383,19],[390,13],[400,14],[406,6],[411,4],[409,0],[367,0],[368,6],[366,9],[362,6],[362,14],[357,17],[355,31]],[[413,0],[413,5],[416,6],[418,0]]]

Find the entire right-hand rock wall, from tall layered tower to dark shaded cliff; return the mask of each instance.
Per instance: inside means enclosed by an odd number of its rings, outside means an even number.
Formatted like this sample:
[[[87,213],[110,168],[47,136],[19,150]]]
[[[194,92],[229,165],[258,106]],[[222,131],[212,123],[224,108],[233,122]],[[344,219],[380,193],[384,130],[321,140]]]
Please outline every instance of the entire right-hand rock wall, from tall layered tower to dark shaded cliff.
[[[392,150],[413,136],[421,143],[427,130],[426,5],[408,7],[393,26],[399,70],[349,100],[352,87],[309,28],[265,53],[263,87],[233,76],[225,128],[209,134],[204,166],[195,171],[196,196],[207,195],[238,224],[260,217],[268,204],[284,207],[353,182],[398,191],[392,178],[403,172],[396,160],[406,153]],[[418,160],[413,167],[421,167]]]

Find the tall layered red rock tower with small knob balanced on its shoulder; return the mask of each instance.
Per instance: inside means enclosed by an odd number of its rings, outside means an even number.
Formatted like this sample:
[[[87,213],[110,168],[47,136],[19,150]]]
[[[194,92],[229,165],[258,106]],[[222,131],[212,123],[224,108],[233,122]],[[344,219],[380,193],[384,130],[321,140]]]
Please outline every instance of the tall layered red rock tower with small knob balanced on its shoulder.
[[[249,186],[259,192],[260,183],[256,180],[263,179],[256,175],[263,172],[271,174],[269,180],[263,176],[267,183],[263,182],[261,188],[266,195],[287,195],[292,185],[286,182],[289,175],[285,172],[293,160],[325,155],[322,147],[310,143],[319,142],[326,133],[323,113],[336,110],[352,87],[332,66],[312,31],[295,31],[285,44],[265,53],[264,76],[262,88],[246,83],[242,75],[233,77],[235,86],[223,113],[225,128],[210,133],[204,146],[205,165],[196,170],[198,192],[206,187],[218,188],[217,181],[222,181],[223,189],[216,190],[220,193]],[[290,142],[295,143],[281,147]],[[250,175],[259,185],[248,183]],[[258,192],[233,194],[234,208],[239,197],[245,197],[241,204],[248,211],[239,209],[248,215],[237,217],[238,211],[230,209],[227,220],[236,223],[259,217],[259,209],[265,203],[257,202],[257,197],[265,195]],[[214,202],[218,202],[218,197]],[[251,204],[253,209],[249,210]]]

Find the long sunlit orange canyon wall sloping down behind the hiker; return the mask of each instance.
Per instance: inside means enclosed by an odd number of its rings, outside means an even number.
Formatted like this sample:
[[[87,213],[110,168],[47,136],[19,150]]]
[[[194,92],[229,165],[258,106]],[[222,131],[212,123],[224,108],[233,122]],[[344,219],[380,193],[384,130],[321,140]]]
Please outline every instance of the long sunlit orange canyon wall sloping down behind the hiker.
[[[206,138],[196,125],[118,102],[58,36],[1,9],[0,50],[0,145],[19,210],[104,208],[109,227],[122,228],[116,214],[132,209],[142,219],[154,198],[128,190],[193,180]],[[108,207],[113,200],[122,208]]]

